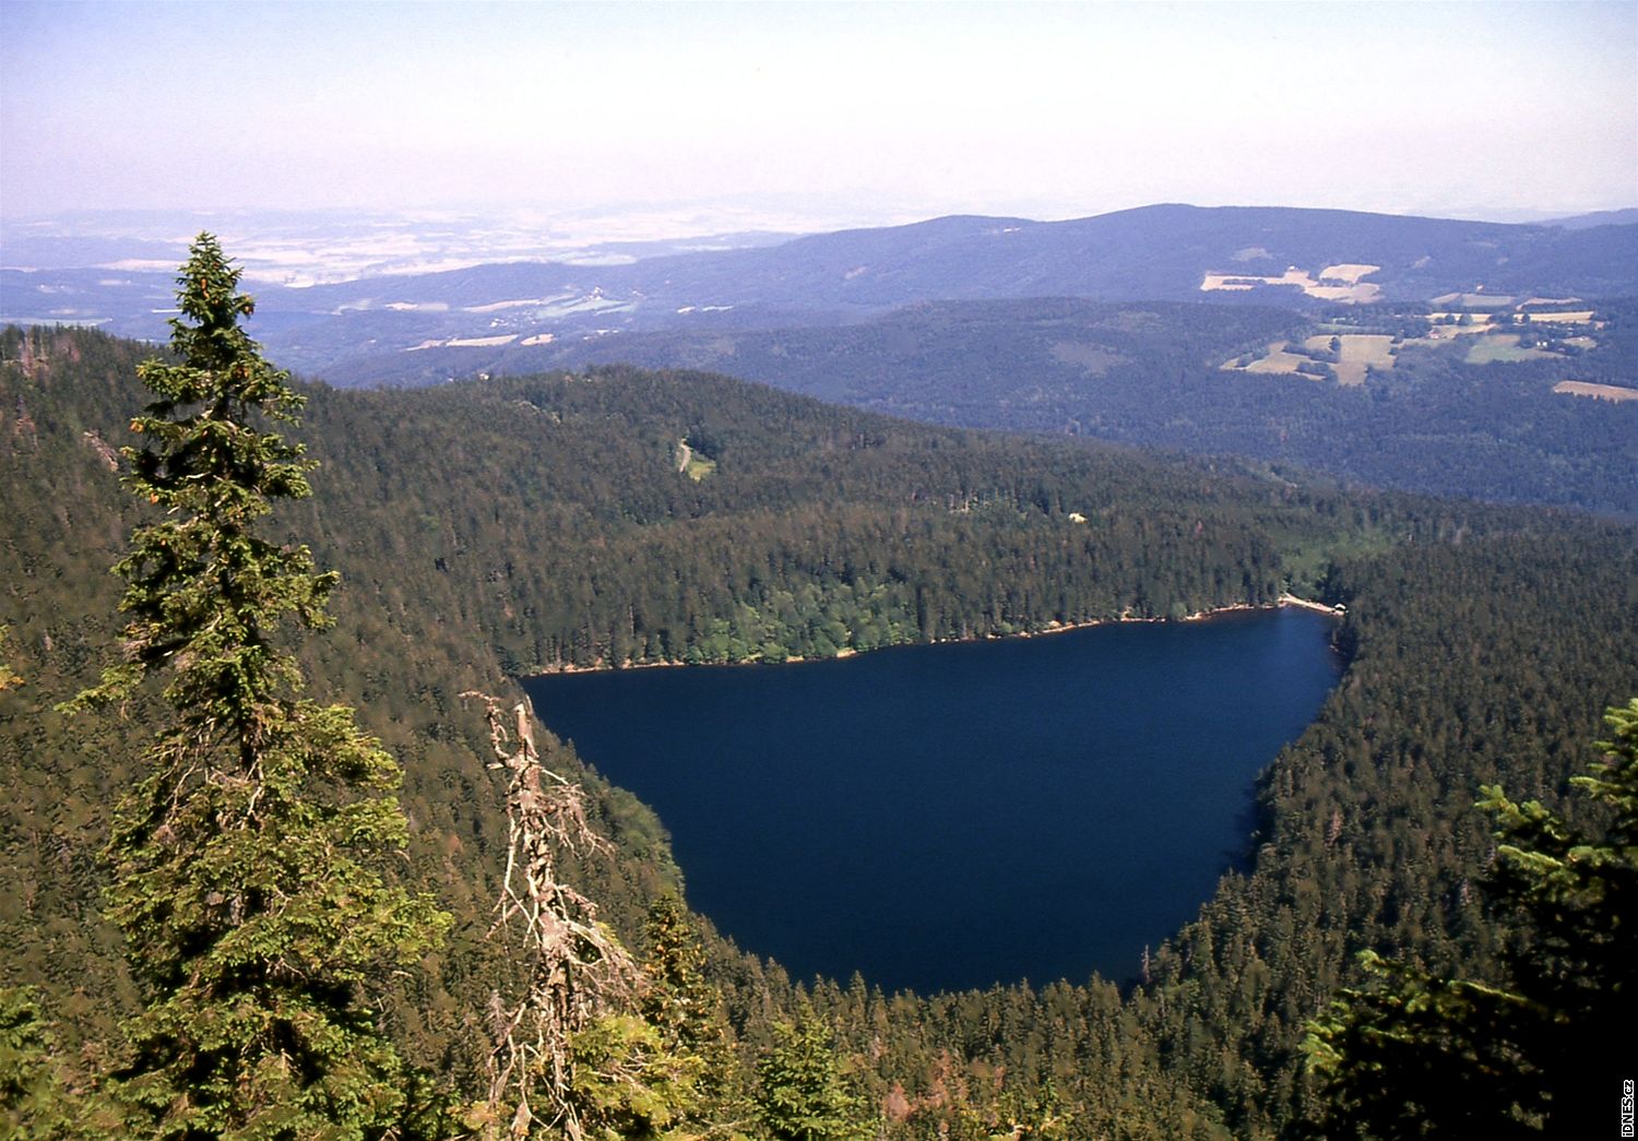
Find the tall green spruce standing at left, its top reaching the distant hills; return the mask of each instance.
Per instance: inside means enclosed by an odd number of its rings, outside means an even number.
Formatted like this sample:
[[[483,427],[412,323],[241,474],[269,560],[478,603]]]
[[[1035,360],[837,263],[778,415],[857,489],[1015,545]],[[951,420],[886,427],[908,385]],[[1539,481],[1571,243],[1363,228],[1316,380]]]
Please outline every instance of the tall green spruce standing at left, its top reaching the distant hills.
[[[328,624],[334,575],[257,534],[310,494],[303,398],[239,321],[251,298],[200,234],[177,278],[172,360],[138,375],[128,486],[164,516],[115,566],[123,663],[79,699],[164,683],[147,776],[121,801],[110,913],[146,1008],[113,1087],[159,1136],[378,1136],[406,1112],[405,1067],[367,1005],[372,979],[436,941],[447,917],[388,886],[406,823],[396,761],[352,710],[301,696],[285,627]]]

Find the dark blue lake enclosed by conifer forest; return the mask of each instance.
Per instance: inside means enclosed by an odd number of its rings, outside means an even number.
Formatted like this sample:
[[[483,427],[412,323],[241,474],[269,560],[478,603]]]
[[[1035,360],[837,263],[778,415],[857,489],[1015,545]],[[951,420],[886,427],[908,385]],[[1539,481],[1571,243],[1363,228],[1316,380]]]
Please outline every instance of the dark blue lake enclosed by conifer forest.
[[[796,977],[1120,981],[1247,851],[1330,632],[1286,609],[527,689],[658,810],[688,902]]]

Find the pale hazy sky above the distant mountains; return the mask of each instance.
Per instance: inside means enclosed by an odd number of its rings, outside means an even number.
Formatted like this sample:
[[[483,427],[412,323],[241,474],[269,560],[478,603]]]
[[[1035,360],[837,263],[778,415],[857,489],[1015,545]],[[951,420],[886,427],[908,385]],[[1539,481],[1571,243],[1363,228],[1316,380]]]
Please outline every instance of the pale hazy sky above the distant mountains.
[[[0,210],[1638,205],[1638,3],[0,3]]]

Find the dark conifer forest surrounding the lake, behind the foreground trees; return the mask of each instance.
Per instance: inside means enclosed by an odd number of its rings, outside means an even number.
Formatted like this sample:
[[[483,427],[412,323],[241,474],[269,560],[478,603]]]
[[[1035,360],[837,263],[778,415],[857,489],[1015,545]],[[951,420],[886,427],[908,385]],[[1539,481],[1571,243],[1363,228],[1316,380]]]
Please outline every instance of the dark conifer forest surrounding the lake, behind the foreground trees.
[[[144,516],[113,449],[147,352],[92,332],[0,336],[0,625],[25,678],[0,692],[0,984],[44,987],[75,1080],[133,1002],[97,851],[147,709],[52,707],[108,660],[106,568]],[[706,941],[731,1026],[716,1108],[752,1136],[785,1134],[745,1107],[817,1064],[867,1134],[1204,1138],[1271,1136],[1312,1112],[1297,1043],[1356,977],[1355,951],[1494,971],[1479,782],[1558,802],[1592,756],[1597,712],[1638,688],[1638,534],[1615,524],[917,427],[699,373],[308,396],[316,496],[272,532],[341,571],[337,625],[303,650],[313,688],[359,706],[398,755],[403,881],[455,915],[449,945],[395,982],[387,1018],[450,1097],[472,1097],[488,994],[513,969],[482,938],[506,825],[467,689],[514,692],[509,678],[567,665],[1183,616],[1287,586],[1345,602],[1348,674],[1265,774],[1250,871],[1129,992],[1096,979],[798,992]],[[575,882],[647,948],[644,912],[686,868],[632,797],[567,748],[545,760],[588,789],[616,841]]]

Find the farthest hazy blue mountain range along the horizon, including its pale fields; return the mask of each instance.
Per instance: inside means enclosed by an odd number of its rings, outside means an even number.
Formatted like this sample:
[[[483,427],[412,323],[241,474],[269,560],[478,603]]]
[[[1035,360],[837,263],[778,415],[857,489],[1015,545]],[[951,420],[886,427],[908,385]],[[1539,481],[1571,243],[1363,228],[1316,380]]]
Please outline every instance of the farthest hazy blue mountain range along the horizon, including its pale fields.
[[[1615,218],[1623,218],[1617,213]],[[1594,216],[1587,216],[1592,219]],[[1638,223],[1504,224],[1155,205],[1068,221],[955,214],[627,265],[505,262],[257,290],[257,336],[305,372],[431,347],[847,324],[924,301],[1038,296],[1314,309],[1448,293],[1638,295]],[[0,273],[0,318],[164,336],[164,275]],[[411,368],[411,357],[403,359]]]

